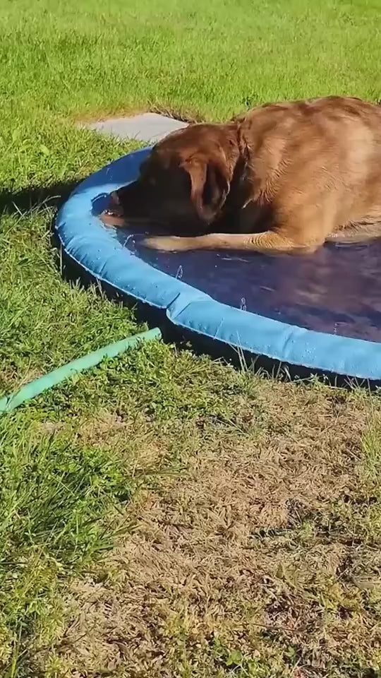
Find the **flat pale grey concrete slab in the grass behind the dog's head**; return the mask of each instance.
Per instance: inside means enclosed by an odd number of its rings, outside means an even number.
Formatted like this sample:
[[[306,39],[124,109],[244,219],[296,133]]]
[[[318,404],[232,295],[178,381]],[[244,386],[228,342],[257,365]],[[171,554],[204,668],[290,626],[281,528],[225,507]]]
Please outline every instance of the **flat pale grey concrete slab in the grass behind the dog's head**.
[[[87,129],[93,129],[101,134],[111,134],[121,139],[138,139],[138,141],[147,141],[147,143],[156,143],[169,132],[187,126],[186,122],[158,113],[143,113],[132,118],[111,118],[85,125]]]

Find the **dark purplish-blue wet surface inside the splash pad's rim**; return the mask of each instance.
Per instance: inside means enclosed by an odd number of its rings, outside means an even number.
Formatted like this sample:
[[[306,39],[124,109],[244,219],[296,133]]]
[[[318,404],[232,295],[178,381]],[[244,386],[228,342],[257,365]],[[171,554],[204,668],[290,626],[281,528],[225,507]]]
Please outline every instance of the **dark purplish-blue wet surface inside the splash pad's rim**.
[[[218,302],[310,330],[381,341],[381,241],[327,244],[310,256],[160,253],[123,230],[143,261]]]

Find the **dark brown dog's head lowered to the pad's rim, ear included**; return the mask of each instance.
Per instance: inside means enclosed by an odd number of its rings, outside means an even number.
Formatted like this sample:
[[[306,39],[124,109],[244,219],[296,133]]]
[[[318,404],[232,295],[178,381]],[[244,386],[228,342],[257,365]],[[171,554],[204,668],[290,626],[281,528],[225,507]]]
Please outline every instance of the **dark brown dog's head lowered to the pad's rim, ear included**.
[[[192,125],[155,145],[136,182],[111,194],[126,220],[206,231],[222,213],[238,160],[234,124]]]

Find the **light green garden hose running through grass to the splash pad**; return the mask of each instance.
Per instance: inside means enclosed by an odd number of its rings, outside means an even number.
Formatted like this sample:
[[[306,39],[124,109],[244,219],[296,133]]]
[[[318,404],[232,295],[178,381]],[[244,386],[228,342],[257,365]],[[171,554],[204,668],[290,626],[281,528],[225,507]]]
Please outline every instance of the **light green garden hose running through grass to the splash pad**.
[[[83,372],[85,369],[90,367],[95,367],[95,365],[102,362],[104,358],[114,358],[120,353],[124,353],[128,348],[132,348],[138,345],[141,342],[150,341],[152,339],[161,339],[162,333],[158,327],[148,330],[147,332],[142,332],[140,334],[135,334],[132,337],[127,337],[126,339],[121,339],[121,341],[116,341],[114,344],[108,344],[102,348],[99,348],[97,351],[92,351],[88,355],[84,355],[81,358],[72,360],[66,365],[62,365],[58,369],[49,372],[49,374],[44,374],[40,376],[39,379],[35,381],[30,381],[30,383],[25,384],[20,388],[20,391],[16,393],[11,393],[10,396],[5,396],[0,399],[0,415],[5,412],[11,412],[15,410],[19,405],[25,403],[26,400],[32,400],[36,396],[40,396],[40,393],[47,391],[52,386],[56,386],[58,383],[65,381],[73,374],[78,374],[78,372]]]

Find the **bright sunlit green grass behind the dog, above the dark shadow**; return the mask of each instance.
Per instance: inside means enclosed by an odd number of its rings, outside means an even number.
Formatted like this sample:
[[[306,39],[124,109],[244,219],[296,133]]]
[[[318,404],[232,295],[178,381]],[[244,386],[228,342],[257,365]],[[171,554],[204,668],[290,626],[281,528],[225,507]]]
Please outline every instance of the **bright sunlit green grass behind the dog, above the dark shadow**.
[[[226,119],[283,97],[377,100],[379,11],[378,0],[3,0],[2,183],[94,166],[88,136],[73,135],[68,118],[158,107]]]

